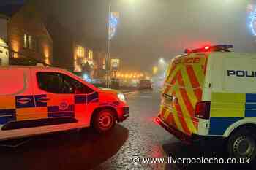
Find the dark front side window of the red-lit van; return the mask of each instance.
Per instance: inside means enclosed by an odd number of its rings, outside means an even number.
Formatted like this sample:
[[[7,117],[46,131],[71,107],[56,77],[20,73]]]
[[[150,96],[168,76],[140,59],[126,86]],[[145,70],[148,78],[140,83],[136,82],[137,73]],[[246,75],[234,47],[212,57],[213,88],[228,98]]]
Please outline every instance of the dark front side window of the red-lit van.
[[[94,90],[65,74],[54,72],[37,73],[39,88],[49,93],[87,94]]]

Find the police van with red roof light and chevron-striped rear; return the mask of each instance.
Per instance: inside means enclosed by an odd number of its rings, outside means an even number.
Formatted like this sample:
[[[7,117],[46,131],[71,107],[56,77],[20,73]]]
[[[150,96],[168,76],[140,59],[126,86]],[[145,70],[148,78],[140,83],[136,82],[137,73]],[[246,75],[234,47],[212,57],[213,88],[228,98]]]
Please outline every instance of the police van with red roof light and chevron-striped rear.
[[[233,158],[256,155],[256,55],[233,45],[185,50],[170,63],[157,123],[184,142],[224,139]]]

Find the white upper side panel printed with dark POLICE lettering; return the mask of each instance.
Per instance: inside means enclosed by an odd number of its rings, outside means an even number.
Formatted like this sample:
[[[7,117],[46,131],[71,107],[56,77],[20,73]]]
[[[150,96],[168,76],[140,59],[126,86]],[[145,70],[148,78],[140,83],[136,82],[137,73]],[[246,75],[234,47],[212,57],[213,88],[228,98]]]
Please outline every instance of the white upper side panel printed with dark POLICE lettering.
[[[224,58],[222,88],[232,93],[256,93],[256,59]]]

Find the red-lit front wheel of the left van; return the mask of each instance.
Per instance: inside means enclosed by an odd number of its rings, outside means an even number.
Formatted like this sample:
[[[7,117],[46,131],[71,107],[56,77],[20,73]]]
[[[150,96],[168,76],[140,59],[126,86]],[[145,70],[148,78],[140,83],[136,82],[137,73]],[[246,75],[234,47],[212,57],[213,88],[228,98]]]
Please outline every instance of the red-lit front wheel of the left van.
[[[94,129],[99,133],[109,131],[116,124],[116,116],[110,109],[102,109],[94,117]]]

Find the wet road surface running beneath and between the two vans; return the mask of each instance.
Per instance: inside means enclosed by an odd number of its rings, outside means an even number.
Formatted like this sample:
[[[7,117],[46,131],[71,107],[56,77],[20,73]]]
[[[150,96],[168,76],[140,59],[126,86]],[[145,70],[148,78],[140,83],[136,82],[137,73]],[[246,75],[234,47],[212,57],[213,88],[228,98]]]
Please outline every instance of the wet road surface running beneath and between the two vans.
[[[154,117],[159,111],[159,96],[159,93],[151,92],[129,95],[129,118],[104,135],[94,134],[91,129],[66,131],[22,139],[26,143],[15,148],[0,147],[1,169],[249,169],[237,165],[132,164],[133,156],[223,157],[223,149],[217,142],[211,142],[211,145],[207,143],[204,147],[199,144],[188,146],[154,123]]]

